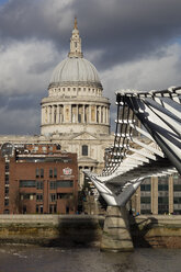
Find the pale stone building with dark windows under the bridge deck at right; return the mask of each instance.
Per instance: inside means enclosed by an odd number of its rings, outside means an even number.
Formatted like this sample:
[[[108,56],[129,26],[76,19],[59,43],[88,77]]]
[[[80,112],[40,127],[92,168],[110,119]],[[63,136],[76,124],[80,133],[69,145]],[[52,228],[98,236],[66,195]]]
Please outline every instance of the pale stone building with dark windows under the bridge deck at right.
[[[132,208],[135,214],[181,214],[181,177],[145,179],[132,197]]]

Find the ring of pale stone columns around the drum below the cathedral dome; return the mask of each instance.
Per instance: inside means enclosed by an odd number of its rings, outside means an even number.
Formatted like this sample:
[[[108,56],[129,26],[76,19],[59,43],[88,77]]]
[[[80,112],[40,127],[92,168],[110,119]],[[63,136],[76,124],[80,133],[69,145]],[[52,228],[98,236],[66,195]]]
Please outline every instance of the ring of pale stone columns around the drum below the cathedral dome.
[[[109,124],[110,109],[100,104],[42,105],[42,125],[63,123]]]

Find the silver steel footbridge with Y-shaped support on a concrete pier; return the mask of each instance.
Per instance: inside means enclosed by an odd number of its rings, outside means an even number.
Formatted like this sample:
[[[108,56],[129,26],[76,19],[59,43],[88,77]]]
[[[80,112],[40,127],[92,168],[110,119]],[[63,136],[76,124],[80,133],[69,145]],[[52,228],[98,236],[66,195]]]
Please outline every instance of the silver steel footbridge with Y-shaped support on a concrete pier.
[[[181,87],[120,90],[116,105],[105,168],[101,175],[84,173],[108,203],[102,249],[132,250],[126,212],[132,195],[146,178],[181,174]]]

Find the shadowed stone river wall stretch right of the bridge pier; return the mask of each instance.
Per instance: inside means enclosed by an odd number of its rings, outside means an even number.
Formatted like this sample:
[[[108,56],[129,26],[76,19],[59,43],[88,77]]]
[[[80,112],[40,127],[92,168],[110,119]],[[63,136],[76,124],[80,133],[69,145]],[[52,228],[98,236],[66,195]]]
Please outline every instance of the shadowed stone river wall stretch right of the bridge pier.
[[[180,215],[131,217],[134,247],[181,248]]]

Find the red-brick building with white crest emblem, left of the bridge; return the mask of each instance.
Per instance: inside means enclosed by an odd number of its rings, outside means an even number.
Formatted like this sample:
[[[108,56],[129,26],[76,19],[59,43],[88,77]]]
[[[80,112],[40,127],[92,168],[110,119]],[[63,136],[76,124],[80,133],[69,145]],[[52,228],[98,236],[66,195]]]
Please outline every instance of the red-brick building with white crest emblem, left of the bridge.
[[[3,144],[0,148],[0,213],[77,211],[77,155],[55,144]]]

